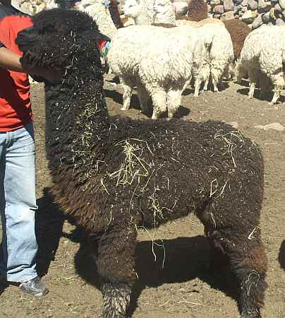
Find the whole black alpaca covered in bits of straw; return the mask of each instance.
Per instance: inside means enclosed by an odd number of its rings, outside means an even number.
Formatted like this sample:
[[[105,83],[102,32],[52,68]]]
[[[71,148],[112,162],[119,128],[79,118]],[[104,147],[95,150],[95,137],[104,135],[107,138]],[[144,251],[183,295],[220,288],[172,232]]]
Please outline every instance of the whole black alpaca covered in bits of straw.
[[[23,65],[64,74],[61,83],[45,85],[52,192],[78,225],[98,237],[104,317],[126,313],[136,279],[137,229],[191,212],[229,257],[243,317],[260,317],[267,258],[260,240],[264,172],[257,145],[224,122],[110,118],[95,22],[59,9],[32,21],[34,28],[17,40]]]

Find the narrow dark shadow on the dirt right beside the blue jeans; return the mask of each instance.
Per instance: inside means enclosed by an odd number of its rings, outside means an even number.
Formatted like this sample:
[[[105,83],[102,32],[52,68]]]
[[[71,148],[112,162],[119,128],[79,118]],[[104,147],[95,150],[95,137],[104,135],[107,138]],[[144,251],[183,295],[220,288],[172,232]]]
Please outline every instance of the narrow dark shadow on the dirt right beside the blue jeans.
[[[43,196],[37,200],[39,207],[35,214],[35,232],[37,237],[37,273],[44,276],[51,261],[54,260],[62,235],[63,213],[54,204],[49,189],[44,189]]]

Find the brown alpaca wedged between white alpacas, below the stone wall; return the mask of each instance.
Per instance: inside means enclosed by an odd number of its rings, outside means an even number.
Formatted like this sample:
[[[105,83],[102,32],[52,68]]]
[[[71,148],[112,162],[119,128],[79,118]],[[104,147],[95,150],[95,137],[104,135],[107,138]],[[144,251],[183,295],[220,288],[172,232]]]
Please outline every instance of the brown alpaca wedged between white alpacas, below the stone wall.
[[[234,46],[234,58],[238,59],[238,57],[241,56],[241,49],[243,48],[245,37],[250,33],[250,28],[248,28],[246,23],[236,18],[224,20],[224,25],[231,35],[231,42],[233,42]]]

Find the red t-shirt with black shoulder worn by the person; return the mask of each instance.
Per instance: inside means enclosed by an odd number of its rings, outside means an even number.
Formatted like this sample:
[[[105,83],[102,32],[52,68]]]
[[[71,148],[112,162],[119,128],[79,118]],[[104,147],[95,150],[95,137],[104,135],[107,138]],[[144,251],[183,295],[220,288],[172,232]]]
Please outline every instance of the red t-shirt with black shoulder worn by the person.
[[[0,47],[22,55],[15,40],[18,32],[30,26],[30,16],[12,6],[0,5]],[[28,75],[0,67],[0,131],[22,128],[31,120]]]

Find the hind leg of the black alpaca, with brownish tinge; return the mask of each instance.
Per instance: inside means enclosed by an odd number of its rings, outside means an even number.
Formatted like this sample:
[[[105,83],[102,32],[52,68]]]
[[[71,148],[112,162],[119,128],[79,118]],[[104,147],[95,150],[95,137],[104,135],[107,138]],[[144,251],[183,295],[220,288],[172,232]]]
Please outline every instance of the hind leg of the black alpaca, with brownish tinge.
[[[238,218],[231,211],[221,211],[219,206],[226,206],[230,199],[229,196],[219,198],[197,215],[209,229],[207,235],[212,237],[214,245],[229,259],[231,271],[240,286],[238,306],[241,317],[260,318],[267,287],[267,257],[260,240],[259,217],[248,211],[242,213],[244,208],[238,204],[236,208],[241,212]],[[244,197],[243,204],[247,203],[250,206],[250,201]],[[251,207],[259,213],[257,206],[251,204]]]

